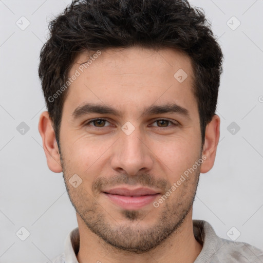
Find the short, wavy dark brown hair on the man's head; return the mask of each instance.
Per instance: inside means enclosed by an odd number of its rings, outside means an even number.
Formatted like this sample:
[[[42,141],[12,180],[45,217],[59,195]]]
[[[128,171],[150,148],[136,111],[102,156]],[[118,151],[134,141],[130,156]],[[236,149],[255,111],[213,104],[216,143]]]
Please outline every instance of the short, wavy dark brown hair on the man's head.
[[[39,77],[59,145],[65,85],[74,60],[83,51],[140,46],[175,48],[192,61],[202,144],[215,115],[223,55],[200,8],[186,0],[76,0],[49,23],[41,49]]]

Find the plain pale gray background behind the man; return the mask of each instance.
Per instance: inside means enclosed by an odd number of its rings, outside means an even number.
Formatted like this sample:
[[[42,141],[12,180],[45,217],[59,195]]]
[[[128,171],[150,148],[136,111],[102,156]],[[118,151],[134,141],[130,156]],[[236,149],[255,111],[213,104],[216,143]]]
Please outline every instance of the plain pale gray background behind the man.
[[[0,262],[46,262],[63,251],[77,227],[62,173],[48,169],[37,130],[46,110],[37,74],[40,49],[48,22],[69,3],[0,1]],[[220,142],[214,167],[200,175],[193,218],[210,222],[222,238],[240,232],[236,241],[263,249],[263,1],[190,3],[204,9],[224,54]],[[22,122],[29,128],[24,134]],[[22,227],[30,232],[25,241],[16,235]]]

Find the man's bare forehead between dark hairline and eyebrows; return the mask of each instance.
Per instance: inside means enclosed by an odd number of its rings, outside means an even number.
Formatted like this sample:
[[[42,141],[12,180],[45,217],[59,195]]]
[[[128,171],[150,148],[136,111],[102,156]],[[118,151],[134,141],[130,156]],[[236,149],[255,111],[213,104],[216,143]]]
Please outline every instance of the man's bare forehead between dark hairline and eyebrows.
[[[70,108],[92,102],[139,110],[156,102],[197,109],[191,60],[175,49],[132,47],[83,52],[69,77],[77,71],[64,102]]]

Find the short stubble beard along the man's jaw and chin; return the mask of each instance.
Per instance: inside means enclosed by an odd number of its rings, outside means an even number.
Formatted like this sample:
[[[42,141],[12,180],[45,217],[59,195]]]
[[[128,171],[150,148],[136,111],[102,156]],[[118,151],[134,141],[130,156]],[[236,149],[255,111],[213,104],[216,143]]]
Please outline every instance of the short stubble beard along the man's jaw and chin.
[[[122,222],[125,219],[126,222],[118,223],[114,216],[110,215],[100,205],[99,201],[82,187],[83,184],[80,184],[77,189],[70,185],[68,179],[71,177],[71,173],[68,173],[69,170],[67,170],[62,155],[61,161],[65,186],[74,209],[91,232],[117,251],[140,254],[155,249],[165,239],[171,237],[172,234],[176,234],[184,219],[192,210],[199,182],[200,167],[179,186],[183,187],[180,196],[178,196],[177,189],[167,200],[160,204],[158,209],[153,206],[153,210],[149,212],[153,213],[152,216],[147,217],[147,213],[143,210],[123,209],[121,211]],[[127,183],[130,177],[123,175],[123,177],[118,178],[122,183]],[[139,178],[138,182],[151,181],[151,178],[145,174],[139,176]],[[149,227],[142,227],[142,222],[149,220],[150,217],[157,218],[155,223],[152,223]]]

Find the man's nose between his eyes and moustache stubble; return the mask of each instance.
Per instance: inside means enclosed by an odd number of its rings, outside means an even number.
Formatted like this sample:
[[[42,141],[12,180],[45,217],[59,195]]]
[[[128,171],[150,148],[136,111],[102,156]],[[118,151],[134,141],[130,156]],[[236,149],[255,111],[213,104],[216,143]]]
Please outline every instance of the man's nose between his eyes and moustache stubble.
[[[136,127],[132,134],[120,131],[120,138],[112,148],[111,167],[119,173],[136,175],[153,168],[153,153],[151,145]]]

